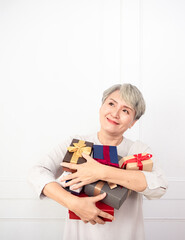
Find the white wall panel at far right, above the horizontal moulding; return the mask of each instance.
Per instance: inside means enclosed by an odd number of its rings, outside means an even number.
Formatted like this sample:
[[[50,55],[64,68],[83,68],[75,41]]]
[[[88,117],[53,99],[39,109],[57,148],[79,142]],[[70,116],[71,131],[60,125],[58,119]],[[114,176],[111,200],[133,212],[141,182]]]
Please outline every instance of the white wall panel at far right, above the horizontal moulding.
[[[142,81],[148,105],[143,141],[151,143],[169,177],[184,180],[185,2],[142,2]]]

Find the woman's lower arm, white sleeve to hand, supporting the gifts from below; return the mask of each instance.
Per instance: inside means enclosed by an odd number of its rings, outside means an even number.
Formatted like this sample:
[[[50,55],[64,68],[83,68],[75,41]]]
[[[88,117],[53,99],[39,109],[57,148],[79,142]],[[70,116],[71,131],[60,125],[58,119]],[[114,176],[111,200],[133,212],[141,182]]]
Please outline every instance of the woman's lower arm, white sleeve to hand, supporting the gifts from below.
[[[34,186],[38,197],[42,199],[47,196],[57,201],[62,206],[75,212],[75,214],[85,222],[89,221],[92,224],[103,224],[104,221],[100,217],[112,220],[112,215],[101,211],[95,205],[95,203],[102,200],[105,195],[98,195],[97,198],[79,198],[66,191],[57,183],[55,176],[57,169],[60,167],[64,152],[65,144],[62,144],[62,147],[54,149],[50,154],[45,156],[38,165],[30,170],[28,181]]]

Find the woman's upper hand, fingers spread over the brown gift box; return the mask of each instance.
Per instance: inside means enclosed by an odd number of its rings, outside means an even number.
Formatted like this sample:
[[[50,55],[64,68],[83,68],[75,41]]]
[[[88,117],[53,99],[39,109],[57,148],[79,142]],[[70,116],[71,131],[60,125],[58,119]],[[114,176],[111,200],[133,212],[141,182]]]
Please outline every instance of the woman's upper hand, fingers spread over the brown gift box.
[[[77,172],[69,174],[68,176],[63,177],[60,180],[61,182],[70,180],[65,184],[65,187],[74,185],[72,187],[72,190],[78,189],[84,185],[100,180],[103,173],[103,168],[105,167],[103,164],[98,163],[92,157],[86,154],[82,155],[87,160],[87,162],[83,164],[73,164],[65,162],[61,163],[63,167],[77,170]]]

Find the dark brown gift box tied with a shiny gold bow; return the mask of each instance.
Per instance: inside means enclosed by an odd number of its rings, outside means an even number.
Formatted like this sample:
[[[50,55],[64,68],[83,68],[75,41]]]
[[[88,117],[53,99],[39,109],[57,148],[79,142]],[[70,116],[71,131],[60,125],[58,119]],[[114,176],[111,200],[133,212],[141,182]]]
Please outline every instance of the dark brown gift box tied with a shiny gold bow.
[[[85,147],[81,147],[81,149],[82,149],[82,152],[84,152],[84,153],[86,153],[86,154],[89,154],[89,155],[91,155],[91,153],[92,153],[92,147],[93,147],[93,143],[92,142],[86,142],[86,141],[83,141],[83,140],[79,140],[79,139],[73,139],[72,140],[72,142],[71,142],[71,144],[70,144],[70,147],[74,147],[75,148],[75,146],[74,146],[74,143],[76,144],[81,144],[82,142],[84,142],[84,144],[85,144]],[[90,147],[90,151],[88,151],[88,153],[87,153],[87,151],[83,151],[83,149],[85,150],[86,149],[86,147]],[[80,147],[79,147],[80,148]],[[69,150],[67,150],[67,153],[66,153],[66,155],[64,156],[64,159],[63,159],[63,162],[67,162],[67,163],[70,163],[71,161],[72,161],[72,159],[74,158],[74,154],[76,154],[76,152],[70,152]],[[76,161],[75,161],[75,163],[76,164],[81,164],[81,163],[84,163],[84,162],[86,162],[86,159],[85,158],[83,158],[82,156],[81,157],[76,157]],[[74,163],[74,162],[72,162],[72,163]],[[75,164],[74,163],[74,164]],[[67,172],[75,172],[76,170],[72,170],[72,169],[69,169],[69,168],[67,168],[67,167],[63,167],[63,170],[64,171],[67,171]]]

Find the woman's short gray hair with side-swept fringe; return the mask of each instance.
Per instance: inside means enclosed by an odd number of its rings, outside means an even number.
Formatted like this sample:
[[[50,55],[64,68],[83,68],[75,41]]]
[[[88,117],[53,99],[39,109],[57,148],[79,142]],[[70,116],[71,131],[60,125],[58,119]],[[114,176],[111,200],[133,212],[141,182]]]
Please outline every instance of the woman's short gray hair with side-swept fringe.
[[[124,101],[133,107],[136,112],[135,119],[138,120],[145,113],[146,105],[142,93],[132,84],[116,84],[108,88],[103,92],[102,103],[104,103],[111,93],[117,90],[120,91],[121,97]]]

